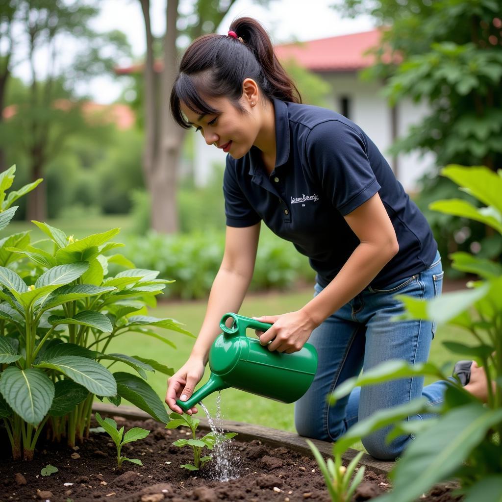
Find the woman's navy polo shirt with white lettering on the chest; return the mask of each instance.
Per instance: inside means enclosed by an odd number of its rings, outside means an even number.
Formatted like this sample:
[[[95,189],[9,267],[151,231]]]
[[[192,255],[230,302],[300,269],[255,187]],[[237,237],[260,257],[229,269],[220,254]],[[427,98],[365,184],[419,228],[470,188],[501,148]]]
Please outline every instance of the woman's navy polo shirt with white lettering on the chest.
[[[327,286],[359,244],[344,216],[376,192],[394,225],[399,253],[371,282],[383,288],[425,270],[437,244],[427,220],[378,148],[334,111],[274,99],[276,164],[269,175],[256,147],[227,156],[223,178],[226,224],[263,220],[309,258]]]

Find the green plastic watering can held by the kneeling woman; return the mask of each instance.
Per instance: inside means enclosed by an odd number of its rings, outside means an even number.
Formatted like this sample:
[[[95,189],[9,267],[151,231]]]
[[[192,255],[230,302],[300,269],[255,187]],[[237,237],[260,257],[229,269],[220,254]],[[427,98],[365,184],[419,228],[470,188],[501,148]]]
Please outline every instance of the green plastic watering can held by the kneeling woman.
[[[228,328],[225,321],[233,319]],[[246,329],[267,331],[272,324],[228,313],[220,321],[221,333],[209,351],[211,374],[208,382],[186,401],[176,401],[184,411],[209,394],[234,387],[266,398],[293,403],[310,387],[317,369],[317,351],[306,343],[292,354],[270,351],[256,338],[246,336]]]

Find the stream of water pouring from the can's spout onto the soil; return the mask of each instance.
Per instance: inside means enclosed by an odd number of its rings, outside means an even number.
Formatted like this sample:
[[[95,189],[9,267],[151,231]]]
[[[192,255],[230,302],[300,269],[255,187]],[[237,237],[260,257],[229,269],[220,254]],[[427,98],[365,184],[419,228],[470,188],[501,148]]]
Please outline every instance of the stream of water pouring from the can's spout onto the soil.
[[[211,469],[211,476],[218,481],[228,481],[239,477],[237,462],[239,457],[233,441],[226,439],[223,432],[222,416],[221,416],[221,393],[216,395],[216,416],[214,419],[209,414],[207,408],[199,402],[200,407],[204,410],[209,422],[209,427],[214,433],[214,448],[211,452],[212,460],[208,464]]]

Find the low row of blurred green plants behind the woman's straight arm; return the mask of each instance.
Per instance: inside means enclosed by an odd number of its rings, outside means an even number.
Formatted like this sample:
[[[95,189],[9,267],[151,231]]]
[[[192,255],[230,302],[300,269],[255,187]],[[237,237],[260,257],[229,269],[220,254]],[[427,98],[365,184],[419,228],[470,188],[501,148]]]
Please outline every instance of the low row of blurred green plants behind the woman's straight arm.
[[[205,298],[223,257],[224,232],[199,229],[185,234],[164,235],[148,231],[145,236],[130,235],[124,254],[138,268],[155,264],[161,279],[174,279],[166,291],[182,299]],[[297,281],[314,279],[306,257],[290,242],[278,239],[263,227],[250,290],[286,289]]]

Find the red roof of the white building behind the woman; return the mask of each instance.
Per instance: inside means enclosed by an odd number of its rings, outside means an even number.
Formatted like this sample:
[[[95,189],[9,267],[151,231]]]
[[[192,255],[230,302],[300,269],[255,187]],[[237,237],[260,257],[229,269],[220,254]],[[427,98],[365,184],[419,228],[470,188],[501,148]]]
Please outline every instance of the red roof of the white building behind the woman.
[[[364,53],[378,46],[381,36],[381,31],[372,30],[278,45],[275,51],[282,62],[295,59],[298,64],[311,71],[354,71],[367,68],[374,63],[374,58]]]

